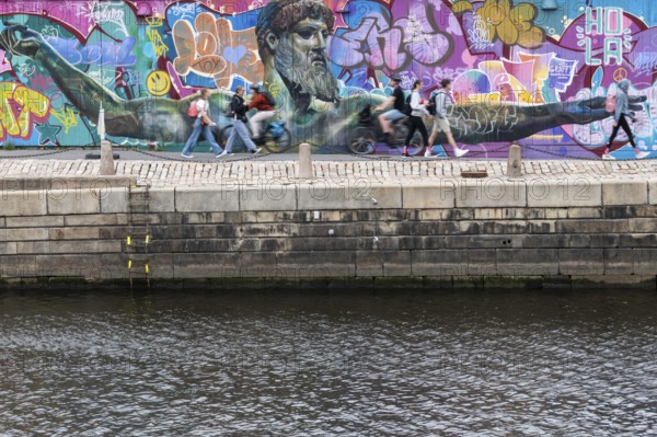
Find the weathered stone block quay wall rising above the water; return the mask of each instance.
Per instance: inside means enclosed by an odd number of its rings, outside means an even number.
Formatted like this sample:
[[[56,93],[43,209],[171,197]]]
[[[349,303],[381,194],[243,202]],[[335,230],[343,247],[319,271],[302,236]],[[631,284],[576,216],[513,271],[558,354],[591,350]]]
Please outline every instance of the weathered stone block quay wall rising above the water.
[[[1,284],[656,288],[657,182],[345,181],[3,179]]]

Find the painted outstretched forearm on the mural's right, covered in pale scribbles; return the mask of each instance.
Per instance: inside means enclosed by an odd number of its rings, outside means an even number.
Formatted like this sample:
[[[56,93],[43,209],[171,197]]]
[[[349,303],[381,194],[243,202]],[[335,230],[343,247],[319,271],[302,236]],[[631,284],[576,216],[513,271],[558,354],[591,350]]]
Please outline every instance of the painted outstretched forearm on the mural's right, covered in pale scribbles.
[[[631,96],[630,108],[641,111],[645,96]],[[481,103],[450,106],[448,117],[454,140],[465,143],[515,141],[562,125],[585,125],[613,115],[604,97],[517,105]],[[442,141],[438,137],[438,141]]]

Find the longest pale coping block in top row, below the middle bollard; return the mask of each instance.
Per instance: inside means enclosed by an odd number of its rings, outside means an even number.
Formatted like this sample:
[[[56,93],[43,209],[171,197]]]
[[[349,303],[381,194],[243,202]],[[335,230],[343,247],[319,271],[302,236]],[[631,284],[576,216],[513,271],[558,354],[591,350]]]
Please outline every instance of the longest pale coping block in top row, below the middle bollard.
[[[401,184],[372,184],[358,180],[351,185],[316,180],[297,187],[299,210],[402,208]]]

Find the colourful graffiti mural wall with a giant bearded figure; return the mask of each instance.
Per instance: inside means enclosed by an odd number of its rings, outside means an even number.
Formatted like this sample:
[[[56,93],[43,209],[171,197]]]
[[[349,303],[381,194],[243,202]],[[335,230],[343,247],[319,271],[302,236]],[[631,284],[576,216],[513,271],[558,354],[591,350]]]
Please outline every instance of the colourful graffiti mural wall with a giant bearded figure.
[[[234,89],[261,83],[296,142],[346,151],[396,76],[405,91],[422,80],[424,99],[452,80],[449,123],[471,156],[505,157],[517,141],[529,157],[596,158],[613,129],[608,96],[627,79],[636,143],[657,156],[653,1],[542,3],[1,1],[0,142],[99,145],[102,105],[113,142],[175,150],[196,91],[212,90],[220,129]],[[633,157],[622,130],[612,154]]]

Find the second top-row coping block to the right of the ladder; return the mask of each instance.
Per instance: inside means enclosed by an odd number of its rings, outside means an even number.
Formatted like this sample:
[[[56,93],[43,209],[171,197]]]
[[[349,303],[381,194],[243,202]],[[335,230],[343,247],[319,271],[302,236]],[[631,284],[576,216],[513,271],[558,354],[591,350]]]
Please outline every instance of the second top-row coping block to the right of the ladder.
[[[217,187],[180,186],[175,188],[178,212],[239,211],[240,192],[229,184]]]

